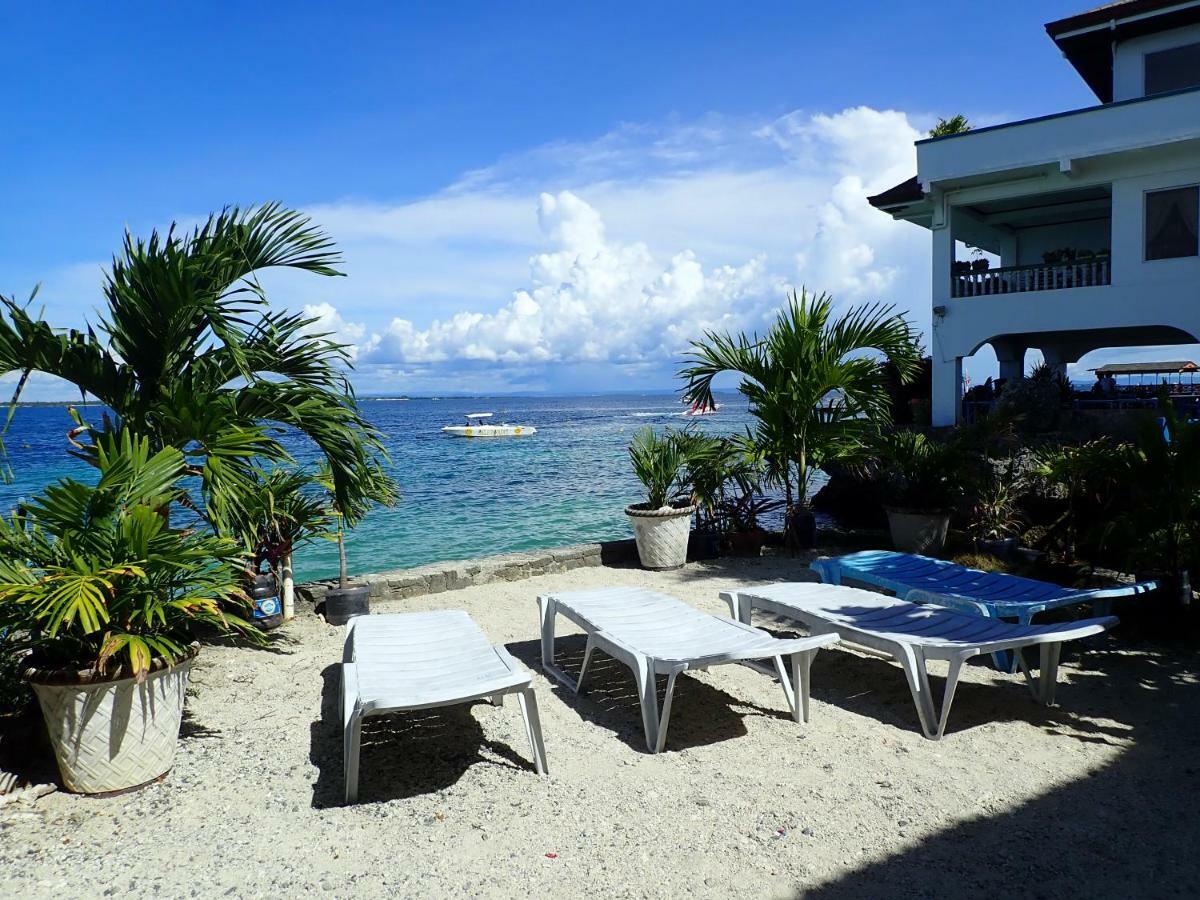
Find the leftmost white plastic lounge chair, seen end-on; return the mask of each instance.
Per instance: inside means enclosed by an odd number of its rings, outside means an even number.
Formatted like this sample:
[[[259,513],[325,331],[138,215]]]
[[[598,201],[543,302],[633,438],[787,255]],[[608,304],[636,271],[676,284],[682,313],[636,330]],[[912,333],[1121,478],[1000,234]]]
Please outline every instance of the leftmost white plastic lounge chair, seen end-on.
[[[529,672],[503,647],[493,647],[461,610],[358,616],[342,652],[342,728],[346,802],[359,791],[362,720],[412,709],[488,700],[500,706],[516,694],[538,774],[546,748]]]

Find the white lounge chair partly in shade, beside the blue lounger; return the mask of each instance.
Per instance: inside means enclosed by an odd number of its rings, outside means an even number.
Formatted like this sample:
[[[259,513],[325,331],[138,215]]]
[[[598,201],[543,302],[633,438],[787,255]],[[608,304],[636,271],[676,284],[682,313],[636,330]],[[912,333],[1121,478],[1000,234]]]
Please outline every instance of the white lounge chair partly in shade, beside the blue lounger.
[[[754,610],[764,610],[797,619],[814,634],[836,634],[845,643],[892,656],[908,678],[920,727],[925,737],[934,740],[946,733],[960,670],[972,656],[1015,650],[1034,700],[1051,706],[1063,641],[1097,635],[1117,624],[1115,617],[1105,616],[1052,625],[1018,625],[940,606],[912,604],[870,590],[812,582],[721,592],[721,599],[730,604],[734,618],[740,622],[749,624]],[[1040,648],[1037,680],[1030,674],[1021,655],[1025,647]],[[931,659],[950,664],[941,715],[934,704],[925,668]]]

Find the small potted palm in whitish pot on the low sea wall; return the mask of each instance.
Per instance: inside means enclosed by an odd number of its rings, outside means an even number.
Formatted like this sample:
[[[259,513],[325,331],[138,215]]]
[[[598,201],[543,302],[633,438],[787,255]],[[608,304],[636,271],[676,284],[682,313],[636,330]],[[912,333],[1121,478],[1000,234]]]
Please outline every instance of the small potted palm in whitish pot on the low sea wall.
[[[634,524],[637,556],[647,569],[678,569],[688,562],[688,534],[696,511],[686,491],[688,440],[667,428],[640,428],[629,445],[634,474],[646,502],[625,508]]]

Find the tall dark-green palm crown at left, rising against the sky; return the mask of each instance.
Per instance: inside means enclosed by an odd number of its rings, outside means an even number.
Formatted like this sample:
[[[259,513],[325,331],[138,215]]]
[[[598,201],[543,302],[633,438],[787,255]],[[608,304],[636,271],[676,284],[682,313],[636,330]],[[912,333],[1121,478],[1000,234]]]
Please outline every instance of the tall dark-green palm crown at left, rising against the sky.
[[[340,506],[356,509],[384,449],[346,377],[348,348],[313,334],[311,318],[268,310],[257,280],[275,266],[336,276],[338,260],[319,228],[278,204],[226,209],[190,233],[126,233],[95,326],[54,329],[0,296],[0,376],[58,376],[112,409],[116,421],[106,413],[98,426],[73,413],[74,452],[92,462],[110,431],[182,450],[202,486],[182,503],[218,530],[253,490],[253,461],[288,458],[278,437],[289,428],[328,460]]]

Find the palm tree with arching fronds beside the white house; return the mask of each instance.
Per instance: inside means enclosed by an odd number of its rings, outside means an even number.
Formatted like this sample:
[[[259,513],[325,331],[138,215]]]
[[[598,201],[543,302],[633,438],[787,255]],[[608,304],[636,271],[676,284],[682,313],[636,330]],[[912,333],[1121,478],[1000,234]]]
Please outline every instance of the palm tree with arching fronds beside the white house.
[[[890,422],[882,353],[901,382],[920,365],[917,332],[894,307],[869,304],[834,317],[833,298],[803,288],[787,298],[766,337],[706,332],[692,342],[684,398],[713,404],[713,379],[742,376],[738,390],[750,401],[756,421],[750,443],[768,478],[782,485],[785,534],[802,542],[798,515],[806,509],[812,472],[833,462],[854,462],[870,439]],[[811,520],[810,520],[811,521]]]

